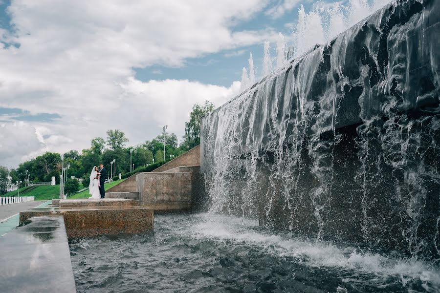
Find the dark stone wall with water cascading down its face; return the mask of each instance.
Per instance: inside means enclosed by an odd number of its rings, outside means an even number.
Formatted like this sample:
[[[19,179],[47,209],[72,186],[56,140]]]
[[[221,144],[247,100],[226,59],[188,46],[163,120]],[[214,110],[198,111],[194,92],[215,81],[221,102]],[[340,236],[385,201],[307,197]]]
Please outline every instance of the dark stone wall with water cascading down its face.
[[[204,117],[209,209],[439,258],[439,20],[394,1]]]

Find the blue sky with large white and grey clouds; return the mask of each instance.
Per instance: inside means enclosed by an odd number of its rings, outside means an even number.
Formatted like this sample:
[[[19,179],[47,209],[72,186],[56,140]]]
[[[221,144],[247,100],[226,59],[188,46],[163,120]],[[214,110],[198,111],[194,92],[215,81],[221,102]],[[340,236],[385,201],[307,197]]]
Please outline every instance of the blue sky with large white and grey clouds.
[[[194,104],[239,93],[250,52],[262,77],[264,42],[274,58],[279,32],[293,42],[301,4],[331,2],[0,0],[0,166],[108,129],[181,139]]]

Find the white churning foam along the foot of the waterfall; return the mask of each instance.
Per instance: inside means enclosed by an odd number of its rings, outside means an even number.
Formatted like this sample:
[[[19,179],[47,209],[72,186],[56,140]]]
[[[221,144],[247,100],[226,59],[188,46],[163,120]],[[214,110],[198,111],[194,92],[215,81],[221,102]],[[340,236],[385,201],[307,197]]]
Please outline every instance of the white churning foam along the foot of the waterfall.
[[[256,244],[264,247],[267,253],[295,257],[308,266],[374,273],[380,279],[400,276],[402,282],[419,279],[424,282],[426,290],[440,290],[440,270],[423,261],[363,252],[354,247],[339,247],[326,242],[316,243],[288,234],[266,234],[256,230],[258,221],[253,219],[212,214],[198,214],[197,218],[197,223],[191,224],[185,233],[191,231],[193,236],[200,239],[232,239]]]

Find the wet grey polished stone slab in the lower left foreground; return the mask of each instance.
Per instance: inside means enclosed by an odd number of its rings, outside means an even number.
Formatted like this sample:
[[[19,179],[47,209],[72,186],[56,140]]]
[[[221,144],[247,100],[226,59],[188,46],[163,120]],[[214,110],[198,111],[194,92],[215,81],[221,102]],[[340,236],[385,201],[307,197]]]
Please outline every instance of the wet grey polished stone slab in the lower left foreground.
[[[0,292],[76,292],[63,217],[23,224],[0,237]]]

